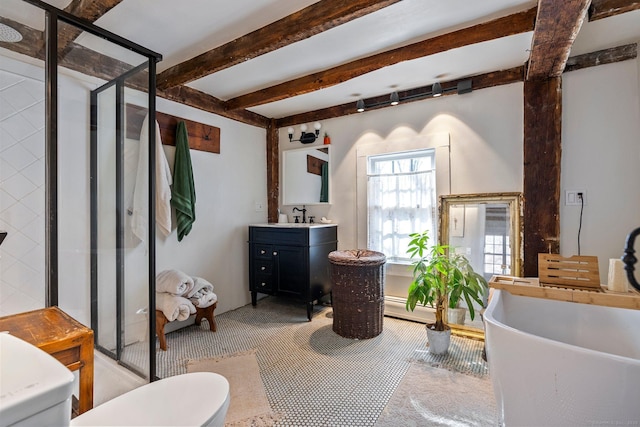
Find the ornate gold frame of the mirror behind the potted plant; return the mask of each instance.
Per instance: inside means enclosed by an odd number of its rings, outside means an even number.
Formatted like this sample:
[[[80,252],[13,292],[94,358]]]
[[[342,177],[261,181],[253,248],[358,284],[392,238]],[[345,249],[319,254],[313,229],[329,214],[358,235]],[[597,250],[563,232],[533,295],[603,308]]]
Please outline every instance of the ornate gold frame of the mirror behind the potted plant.
[[[520,277],[523,267],[523,202],[522,193],[478,193],[478,194],[449,194],[440,196],[438,242],[449,244],[449,210],[451,206],[472,205],[483,203],[506,203],[509,206],[511,218],[510,232],[513,236],[511,253],[511,274]],[[484,338],[484,330],[472,326],[449,324],[457,335],[470,338]]]

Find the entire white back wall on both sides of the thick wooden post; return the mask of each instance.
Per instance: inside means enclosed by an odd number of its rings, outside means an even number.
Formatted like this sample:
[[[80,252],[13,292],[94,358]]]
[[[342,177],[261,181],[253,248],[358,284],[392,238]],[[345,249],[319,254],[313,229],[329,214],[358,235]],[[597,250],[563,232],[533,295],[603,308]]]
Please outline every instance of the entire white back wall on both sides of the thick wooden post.
[[[622,255],[625,236],[640,226],[639,68],[636,59],[563,75],[562,194],[587,192],[581,252],[598,257],[603,283],[608,259]],[[332,204],[308,206],[308,214],[338,223],[339,249],[360,246],[366,207],[354,185],[358,147],[386,144],[393,151],[396,141],[439,132],[450,134],[452,194],[522,191],[522,92],[516,83],[323,121],[332,140]],[[299,147],[281,129],[281,150]],[[282,208],[291,214],[290,206]],[[563,199],[563,255],[577,252],[578,218],[579,207]],[[387,295],[404,296],[408,279],[389,272]]]

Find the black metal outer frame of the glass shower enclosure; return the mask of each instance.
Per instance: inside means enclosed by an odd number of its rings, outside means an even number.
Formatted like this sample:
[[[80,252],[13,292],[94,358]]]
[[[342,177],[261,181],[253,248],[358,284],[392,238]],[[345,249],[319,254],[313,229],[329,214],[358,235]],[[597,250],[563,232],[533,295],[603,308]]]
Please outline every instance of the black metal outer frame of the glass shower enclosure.
[[[45,12],[45,306],[57,306],[58,283],[58,23],[72,25],[82,31],[105,39],[111,43],[129,49],[146,57],[144,63],[148,67],[148,108],[149,117],[155,118],[156,114],[156,63],[162,60],[162,55],[149,50],[137,43],[127,40],[115,33],[100,28],[92,23],[77,18],[76,16],[60,10],[41,0],[22,0],[25,3],[38,7]],[[138,67],[134,68],[138,69]],[[125,73],[128,74],[128,73]],[[122,77],[122,76],[121,76]],[[93,107],[92,107],[93,114]],[[91,128],[93,138],[94,129]],[[155,120],[149,120],[149,151],[155,150]],[[155,218],[155,157],[149,156],[149,218]],[[93,177],[92,177],[93,178]],[[91,179],[91,215],[94,214],[94,190],[95,180]],[[92,217],[93,218],[93,217]],[[94,258],[97,257],[94,246],[94,225],[91,229],[91,327],[97,327],[97,317],[94,322]],[[149,307],[155,307],[155,221],[149,223]],[[97,301],[96,301],[97,303]],[[154,381],[156,376],[156,345],[155,345],[155,319],[149,316],[149,380]]]

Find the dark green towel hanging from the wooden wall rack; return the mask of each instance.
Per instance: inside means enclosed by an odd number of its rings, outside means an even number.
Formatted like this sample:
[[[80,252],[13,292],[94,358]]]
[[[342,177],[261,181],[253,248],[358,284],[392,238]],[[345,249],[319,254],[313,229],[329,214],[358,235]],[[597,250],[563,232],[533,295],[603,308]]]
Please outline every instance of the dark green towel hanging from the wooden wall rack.
[[[196,188],[193,182],[193,168],[189,153],[189,137],[183,121],[176,129],[176,157],[173,165],[173,186],[171,205],[176,208],[178,241],[189,234],[196,220]]]

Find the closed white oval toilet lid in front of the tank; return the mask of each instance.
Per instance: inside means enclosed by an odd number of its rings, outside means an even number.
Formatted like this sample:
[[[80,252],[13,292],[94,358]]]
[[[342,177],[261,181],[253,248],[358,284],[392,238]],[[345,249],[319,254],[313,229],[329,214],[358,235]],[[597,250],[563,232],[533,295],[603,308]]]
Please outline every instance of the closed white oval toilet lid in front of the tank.
[[[203,426],[229,405],[229,382],[213,372],[164,378],[103,403],[71,426]],[[216,420],[218,421],[218,420]],[[215,424],[223,425],[224,418]]]

